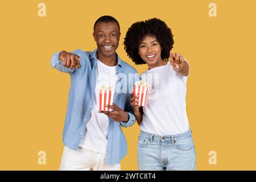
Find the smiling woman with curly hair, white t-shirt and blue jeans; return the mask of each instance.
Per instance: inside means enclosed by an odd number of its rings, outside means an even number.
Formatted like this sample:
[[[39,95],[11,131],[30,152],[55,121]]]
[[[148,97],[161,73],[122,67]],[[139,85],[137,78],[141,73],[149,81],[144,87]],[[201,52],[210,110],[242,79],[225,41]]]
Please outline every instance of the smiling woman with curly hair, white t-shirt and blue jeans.
[[[141,79],[151,85],[146,106],[135,105],[138,97],[130,100],[141,129],[139,170],[195,170],[185,102],[189,64],[171,52],[173,44],[171,29],[156,18],[136,22],[126,33],[125,51],[135,64],[148,65]]]

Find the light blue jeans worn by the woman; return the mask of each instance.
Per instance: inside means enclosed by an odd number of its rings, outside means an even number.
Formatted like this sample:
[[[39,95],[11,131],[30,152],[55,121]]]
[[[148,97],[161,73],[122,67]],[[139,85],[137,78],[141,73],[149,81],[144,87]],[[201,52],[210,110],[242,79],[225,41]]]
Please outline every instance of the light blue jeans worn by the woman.
[[[140,171],[195,170],[196,152],[191,130],[159,136],[141,130],[138,140]]]

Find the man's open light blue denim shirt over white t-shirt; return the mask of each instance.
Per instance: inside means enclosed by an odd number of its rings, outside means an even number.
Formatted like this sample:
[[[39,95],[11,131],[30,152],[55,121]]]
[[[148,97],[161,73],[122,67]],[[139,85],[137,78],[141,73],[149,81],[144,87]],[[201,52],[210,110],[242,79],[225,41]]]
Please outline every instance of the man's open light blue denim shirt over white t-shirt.
[[[94,89],[97,79],[97,49],[85,52],[77,49],[72,52],[81,57],[79,69],[69,69],[59,60],[59,53],[52,56],[51,66],[71,76],[71,87],[68,96],[68,108],[63,129],[63,143],[72,150],[77,150],[82,136],[85,134],[86,123],[94,106]],[[127,154],[127,142],[121,129],[132,126],[135,122],[133,109],[130,105],[130,93],[134,82],[139,79],[136,69],[122,61],[119,56],[116,67],[118,80],[114,94],[114,104],[127,111],[128,122],[115,122],[109,118],[107,164],[119,164]],[[119,89],[118,89],[119,88]]]

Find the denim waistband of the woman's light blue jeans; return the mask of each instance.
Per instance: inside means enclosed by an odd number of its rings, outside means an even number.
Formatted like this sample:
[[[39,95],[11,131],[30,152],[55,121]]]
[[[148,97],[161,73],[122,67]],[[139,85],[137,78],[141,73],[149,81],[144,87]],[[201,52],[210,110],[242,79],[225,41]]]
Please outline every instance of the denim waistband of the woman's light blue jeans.
[[[156,134],[151,134],[147,133],[146,131],[141,130],[141,135],[143,137],[149,137],[149,138],[154,138],[155,140],[162,140],[162,139],[182,139],[182,138],[187,138],[192,135],[192,131],[189,129],[188,131],[181,133],[181,134],[176,134],[176,135],[156,135]]]

